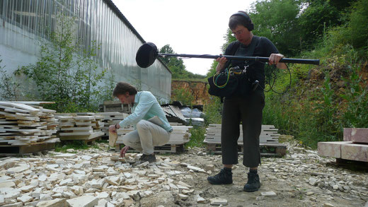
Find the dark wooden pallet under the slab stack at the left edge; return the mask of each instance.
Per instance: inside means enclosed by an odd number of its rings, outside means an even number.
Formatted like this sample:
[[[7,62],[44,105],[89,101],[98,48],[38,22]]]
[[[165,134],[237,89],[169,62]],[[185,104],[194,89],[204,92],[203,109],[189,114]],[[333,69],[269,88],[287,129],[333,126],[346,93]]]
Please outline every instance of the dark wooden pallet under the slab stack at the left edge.
[[[44,150],[50,150],[55,148],[55,143],[39,142],[33,143],[25,146],[11,146],[11,145],[1,145],[0,146],[0,156],[15,156],[15,155],[25,155],[29,153],[37,153]]]

